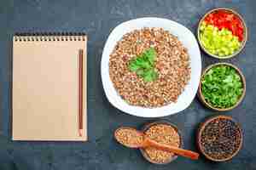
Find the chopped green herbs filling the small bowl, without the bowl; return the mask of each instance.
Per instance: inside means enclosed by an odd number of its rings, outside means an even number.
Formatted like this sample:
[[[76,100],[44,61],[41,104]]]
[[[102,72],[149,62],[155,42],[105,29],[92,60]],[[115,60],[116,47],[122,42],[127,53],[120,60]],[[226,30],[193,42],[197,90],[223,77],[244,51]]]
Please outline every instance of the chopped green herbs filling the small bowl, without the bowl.
[[[217,108],[236,105],[243,92],[241,77],[227,65],[218,65],[207,71],[201,84],[207,103]]]

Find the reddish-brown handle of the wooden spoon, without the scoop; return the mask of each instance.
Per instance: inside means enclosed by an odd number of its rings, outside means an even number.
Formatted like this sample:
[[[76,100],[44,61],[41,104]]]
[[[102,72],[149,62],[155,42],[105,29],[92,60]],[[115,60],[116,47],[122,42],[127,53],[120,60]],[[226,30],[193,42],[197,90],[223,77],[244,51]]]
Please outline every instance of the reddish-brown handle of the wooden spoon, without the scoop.
[[[171,145],[167,145],[167,144],[159,144],[151,139],[146,139],[146,141],[148,143],[147,144],[148,146],[152,146],[158,150],[172,152],[172,153],[177,154],[178,156],[188,157],[192,160],[197,160],[199,157],[198,153],[191,151],[191,150],[183,150],[183,149],[175,147],[175,146],[171,146]]]

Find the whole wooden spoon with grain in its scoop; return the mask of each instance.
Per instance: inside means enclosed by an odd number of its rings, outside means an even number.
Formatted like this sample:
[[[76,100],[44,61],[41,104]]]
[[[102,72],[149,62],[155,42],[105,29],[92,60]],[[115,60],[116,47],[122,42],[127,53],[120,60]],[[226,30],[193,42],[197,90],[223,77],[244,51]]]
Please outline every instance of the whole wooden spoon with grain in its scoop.
[[[152,139],[149,139],[144,133],[137,131],[132,127],[119,127],[114,132],[114,138],[120,143],[129,148],[147,148],[154,147],[158,150],[164,150],[177,154],[178,156],[188,157],[192,160],[197,160],[199,154],[191,150],[183,150],[181,148],[160,144]]]

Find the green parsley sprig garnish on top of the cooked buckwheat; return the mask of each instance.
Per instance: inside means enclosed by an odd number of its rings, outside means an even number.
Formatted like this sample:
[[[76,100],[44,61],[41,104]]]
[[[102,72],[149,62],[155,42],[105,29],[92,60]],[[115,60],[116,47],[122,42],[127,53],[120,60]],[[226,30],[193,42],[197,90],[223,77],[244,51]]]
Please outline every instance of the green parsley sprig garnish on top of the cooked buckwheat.
[[[154,69],[156,51],[148,48],[143,54],[131,59],[128,67],[130,71],[136,72],[138,77],[143,77],[144,82],[153,82],[158,78],[158,73]]]

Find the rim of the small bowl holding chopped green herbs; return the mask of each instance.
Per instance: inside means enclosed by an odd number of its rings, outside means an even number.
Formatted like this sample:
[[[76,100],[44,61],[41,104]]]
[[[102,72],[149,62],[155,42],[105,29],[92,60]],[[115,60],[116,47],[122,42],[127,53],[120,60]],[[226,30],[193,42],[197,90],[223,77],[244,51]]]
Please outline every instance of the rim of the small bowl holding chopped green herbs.
[[[222,109],[222,108],[213,107],[212,105],[207,103],[207,100],[205,99],[204,95],[201,92],[201,81],[202,81],[203,77],[206,75],[207,71],[209,71],[210,69],[212,69],[212,67],[217,66],[217,65],[228,65],[228,66],[234,68],[237,71],[237,73],[239,74],[239,76],[241,77],[241,82],[242,82],[242,85],[243,85],[243,92],[241,94],[240,99],[236,102],[236,105],[233,105],[229,108]],[[213,65],[209,65],[207,67],[207,69],[205,71],[203,71],[202,76],[201,76],[201,81],[199,83],[197,96],[199,97],[199,99],[201,100],[201,102],[204,105],[206,105],[208,108],[210,108],[214,111],[231,111],[231,110],[233,110],[234,108],[236,108],[237,105],[239,105],[241,103],[242,99],[244,98],[244,96],[246,94],[246,80],[245,80],[245,77],[243,76],[243,74],[241,73],[241,70],[239,68],[237,68],[235,65],[232,65],[230,63],[216,63],[216,64],[213,64]]]

